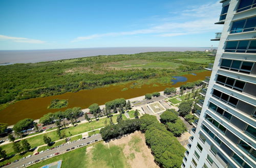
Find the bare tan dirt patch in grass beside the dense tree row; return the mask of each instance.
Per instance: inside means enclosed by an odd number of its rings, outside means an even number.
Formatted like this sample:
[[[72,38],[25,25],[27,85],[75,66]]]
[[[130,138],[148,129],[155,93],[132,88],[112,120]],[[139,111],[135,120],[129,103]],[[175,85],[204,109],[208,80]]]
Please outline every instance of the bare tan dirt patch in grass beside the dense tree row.
[[[104,143],[106,145],[106,143]],[[110,146],[119,146],[130,167],[159,167],[154,162],[151,149],[145,144],[145,137],[139,131],[111,141]]]

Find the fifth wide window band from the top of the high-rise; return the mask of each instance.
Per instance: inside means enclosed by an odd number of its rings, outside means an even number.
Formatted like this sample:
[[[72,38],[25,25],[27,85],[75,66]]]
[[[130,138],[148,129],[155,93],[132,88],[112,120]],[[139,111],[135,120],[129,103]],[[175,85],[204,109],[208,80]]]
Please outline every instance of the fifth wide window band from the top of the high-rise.
[[[245,86],[245,82],[231,77],[226,77],[223,75],[218,75],[216,83],[223,85],[225,87],[231,88],[233,90],[242,92]]]

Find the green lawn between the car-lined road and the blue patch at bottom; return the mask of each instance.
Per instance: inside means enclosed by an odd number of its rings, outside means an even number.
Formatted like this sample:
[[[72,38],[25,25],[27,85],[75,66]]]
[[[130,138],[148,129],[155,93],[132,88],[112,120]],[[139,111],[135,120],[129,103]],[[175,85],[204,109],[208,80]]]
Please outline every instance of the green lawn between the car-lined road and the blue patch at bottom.
[[[53,158],[41,161],[37,164],[31,165],[31,168],[42,167],[46,164],[50,164],[52,162],[62,160],[61,168],[69,168],[69,167],[88,167],[87,166],[87,155],[86,155],[86,147],[82,147],[76,149],[74,151],[67,152],[65,154],[61,154],[59,156],[55,156]]]

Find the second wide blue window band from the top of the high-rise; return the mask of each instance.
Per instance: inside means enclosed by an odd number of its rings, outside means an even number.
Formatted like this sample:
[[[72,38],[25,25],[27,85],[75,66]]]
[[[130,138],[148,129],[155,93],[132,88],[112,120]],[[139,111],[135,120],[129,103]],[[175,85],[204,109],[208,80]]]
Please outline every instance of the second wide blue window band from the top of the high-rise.
[[[230,34],[255,31],[256,17],[234,21],[231,27]]]

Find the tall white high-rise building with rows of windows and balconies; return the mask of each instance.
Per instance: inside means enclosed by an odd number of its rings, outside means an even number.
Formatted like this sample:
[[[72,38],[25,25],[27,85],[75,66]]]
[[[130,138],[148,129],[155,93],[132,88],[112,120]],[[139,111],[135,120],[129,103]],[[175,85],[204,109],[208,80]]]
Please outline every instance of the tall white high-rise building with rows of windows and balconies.
[[[223,31],[181,167],[256,167],[256,0],[222,0]]]

